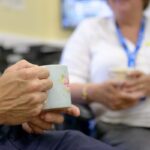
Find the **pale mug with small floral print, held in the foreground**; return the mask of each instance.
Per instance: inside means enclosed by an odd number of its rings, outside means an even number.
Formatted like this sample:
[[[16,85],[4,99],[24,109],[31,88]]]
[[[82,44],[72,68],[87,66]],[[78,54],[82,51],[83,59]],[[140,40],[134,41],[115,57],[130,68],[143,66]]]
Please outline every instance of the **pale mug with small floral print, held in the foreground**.
[[[53,87],[48,91],[44,110],[63,109],[71,106],[68,69],[65,65],[46,65]]]

